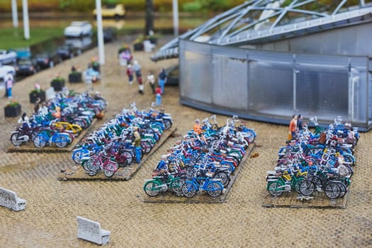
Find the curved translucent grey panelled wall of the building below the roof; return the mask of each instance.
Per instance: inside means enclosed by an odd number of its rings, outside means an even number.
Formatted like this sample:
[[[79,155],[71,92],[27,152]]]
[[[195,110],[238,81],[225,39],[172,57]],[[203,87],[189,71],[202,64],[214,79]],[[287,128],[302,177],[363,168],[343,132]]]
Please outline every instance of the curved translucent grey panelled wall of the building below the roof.
[[[181,101],[191,106],[273,123],[288,123],[294,113],[305,119],[316,115],[321,123],[341,115],[364,130],[372,128],[372,65],[367,57],[181,40],[179,58]]]

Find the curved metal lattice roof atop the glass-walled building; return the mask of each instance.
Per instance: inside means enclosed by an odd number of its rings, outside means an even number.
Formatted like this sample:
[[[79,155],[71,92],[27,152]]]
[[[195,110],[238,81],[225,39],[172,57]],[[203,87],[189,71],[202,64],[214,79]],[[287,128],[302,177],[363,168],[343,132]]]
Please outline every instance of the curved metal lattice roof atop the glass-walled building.
[[[253,45],[368,21],[372,21],[372,0],[250,0],[179,35],[161,47],[152,60],[178,57],[179,39]]]

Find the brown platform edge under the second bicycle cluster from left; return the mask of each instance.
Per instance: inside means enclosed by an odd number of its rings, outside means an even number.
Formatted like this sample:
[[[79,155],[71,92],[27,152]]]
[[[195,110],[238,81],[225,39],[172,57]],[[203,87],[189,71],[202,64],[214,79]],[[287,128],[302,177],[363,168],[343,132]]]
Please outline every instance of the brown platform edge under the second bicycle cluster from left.
[[[141,168],[142,164],[145,163],[147,159],[149,159],[152,154],[156,152],[157,149],[161,147],[171,135],[173,135],[175,131],[176,127],[174,126],[169,130],[164,130],[162,138],[155,144],[150,153],[145,154],[142,157],[139,164],[133,162],[127,167],[120,167],[118,171],[116,171],[111,177],[105,176],[103,171],[98,171],[97,174],[89,174],[89,171],[85,171],[83,167],[81,167],[79,164],[76,164],[71,169],[61,171],[61,173],[57,176],[57,179],[59,181],[128,181],[135,176],[135,173]]]

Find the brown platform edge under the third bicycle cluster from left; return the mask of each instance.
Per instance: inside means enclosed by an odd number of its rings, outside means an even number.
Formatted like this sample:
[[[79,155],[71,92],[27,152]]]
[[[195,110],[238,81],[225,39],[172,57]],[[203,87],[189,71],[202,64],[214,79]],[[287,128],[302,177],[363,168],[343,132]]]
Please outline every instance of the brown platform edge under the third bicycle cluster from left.
[[[150,197],[147,196],[145,192],[143,192],[143,202],[145,203],[224,203],[232,186],[234,185],[237,176],[239,176],[239,172],[244,169],[244,165],[249,158],[249,155],[252,153],[256,144],[253,142],[252,145],[249,145],[247,152],[245,153],[242,161],[240,162],[237,169],[235,169],[234,174],[231,176],[230,184],[225,188],[225,192],[222,193],[218,197],[211,197],[204,191],[198,191],[196,196],[192,198],[186,198],[184,196],[176,196],[174,193],[171,192],[160,192],[157,196]]]

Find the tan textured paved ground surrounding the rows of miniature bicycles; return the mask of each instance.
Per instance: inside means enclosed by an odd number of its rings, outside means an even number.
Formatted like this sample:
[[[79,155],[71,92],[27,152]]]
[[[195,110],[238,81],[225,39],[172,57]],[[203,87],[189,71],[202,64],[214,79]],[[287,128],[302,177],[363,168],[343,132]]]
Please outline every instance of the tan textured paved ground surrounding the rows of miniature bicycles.
[[[135,84],[128,85],[125,69],[120,68],[116,52],[120,43],[106,46],[103,80],[94,90],[108,98],[106,118],[135,101],[147,108],[154,101],[150,86],[145,95],[137,94]],[[44,89],[55,74],[67,77],[72,64],[85,68],[97,50],[68,60],[54,69],[41,72],[14,86],[14,98],[23,111],[32,113],[28,92],[36,82]],[[143,74],[176,63],[153,63],[150,55],[136,52]],[[68,84],[83,91],[84,84]],[[176,134],[192,128],[193,120],[210,113],[179,104],[179,89],[167,87],[164,107],[173,115]],[[1,92],[0,92],[1,93]],[[2,92],[1,94],[4,94]],[[0,99],[5,106],[6,99]],[[218,116],[219,123],[226,120]],[[143,164],[130,181],[57,181],[62,169],[74,164],[69,153],[6,153],[16,118],[0,113],[0,186],[16,191],[26,199],[26,210],[13,212],[0,208],[1,247],[95,247],[77,239],[77,215],[96,220],[111,231],[106,247],[372,247],[372,188],[370,152],[372,133],[362,133],[357,147],[357,165],[351,192],[344,209],[264,208],[267,196],[266,171],[273,169],[278,147],[283,145],[287,127],[248,121],[257,132],[259,157],[247,159],[225,203],[145,203],[144,179],[150,178],[160,156],[180,136],[171,137]],[[97,123],[98,125],[98,123]]]

